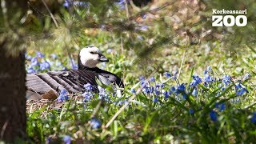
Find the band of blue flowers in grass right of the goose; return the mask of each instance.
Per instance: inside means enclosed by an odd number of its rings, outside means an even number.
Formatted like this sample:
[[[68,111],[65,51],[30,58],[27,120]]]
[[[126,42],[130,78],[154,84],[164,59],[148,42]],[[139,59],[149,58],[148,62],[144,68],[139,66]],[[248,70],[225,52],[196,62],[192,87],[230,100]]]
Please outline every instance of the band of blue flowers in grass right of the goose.
[[[222,78],[217,79],[214,78],[213,70],[210,66],[204,70],[203,74],[204,77],[200,78],[197,74],[192,76],[191,82],[188,84],[178,82],[176,77],[177,72],[170,73],[165,72],[163,75],[166,78],[174,79],[177,83],[176,86],[167,86],[166,83],[158,83],[154,77],[149,78],[148,80],[144,77],[140,77],[140,84],[143,94],[147,94],[152,97],[153,102],[159,101],[168,101],[168,98],[174,97],[178,102],[182,102],[187,100],[187,98],[191,95],[194,98],[197,98],[198,94],[208,94],[207,90],[215,90],[216,96],[222,94],[223,90],[226,90],[228,86],[231,86],[229,93],[233,93],[236,97],[243,96],[249,93],[249,90],[246,89],[246,86],[243,86],[242,81],[246,81],[250,78],[250,74],[246,74],[245,77],[233,86],[231,84],[234,83],[232,77],[230,75],[224,75]],[[169,79],[167,79],[168,81]],[[203,85],[201,85],[203,83]],[[198,92],[201,90],[202,92]],[[134,94],[136,90],[131,89],[131,92]],[[226,91],[225,91],[226,92]],[[232,98],[230,102],[238,101],[239,98]],[[239,102],[239,101],[238,101]],[[162,103],[162,102],[160,102]],[[218,113],[226,110],[226,103],[225,102],[215,102],[214,107],[212,110],[209,111],[209,118],[213,122],[218,121]],[[195,110],[193,108],[189,108],[188,112],[190,114],[194,114]]]

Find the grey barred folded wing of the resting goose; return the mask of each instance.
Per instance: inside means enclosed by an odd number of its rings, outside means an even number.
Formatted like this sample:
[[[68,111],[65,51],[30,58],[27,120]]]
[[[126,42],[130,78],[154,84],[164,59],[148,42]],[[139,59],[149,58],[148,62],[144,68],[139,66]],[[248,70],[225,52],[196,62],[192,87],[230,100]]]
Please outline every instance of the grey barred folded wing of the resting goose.
[[[52,71],[43,74],[27,74],[26,87],[38,94],[45,94],[50,90],[59,93],[66,89],[70,93],[83,90],[83,85],[90,83],[97,89],[95,78],[98,74],[90,70]]]

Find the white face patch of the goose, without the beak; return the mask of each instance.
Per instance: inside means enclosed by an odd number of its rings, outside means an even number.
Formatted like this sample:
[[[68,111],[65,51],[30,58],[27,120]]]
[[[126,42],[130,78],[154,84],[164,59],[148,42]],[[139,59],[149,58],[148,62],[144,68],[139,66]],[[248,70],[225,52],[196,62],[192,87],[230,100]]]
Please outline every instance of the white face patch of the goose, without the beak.
[[[90,68],[96,67],[100,59],[99,54],[102,54],[102,52],[98,49],[98,47],[89,46],[82,48],[79,53],[82,65]]]

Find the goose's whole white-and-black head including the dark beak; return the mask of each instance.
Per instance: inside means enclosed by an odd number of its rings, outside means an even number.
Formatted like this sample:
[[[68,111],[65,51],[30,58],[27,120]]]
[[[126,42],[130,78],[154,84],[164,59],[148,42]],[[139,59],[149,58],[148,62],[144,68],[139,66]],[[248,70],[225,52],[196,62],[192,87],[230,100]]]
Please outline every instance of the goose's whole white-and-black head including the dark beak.
[[[82,70],[85,67],[94,68],[99,62],[109,62],[109,60],[102,54],[98,47],[87,46],[80,50],[78,55],[79,70]]]

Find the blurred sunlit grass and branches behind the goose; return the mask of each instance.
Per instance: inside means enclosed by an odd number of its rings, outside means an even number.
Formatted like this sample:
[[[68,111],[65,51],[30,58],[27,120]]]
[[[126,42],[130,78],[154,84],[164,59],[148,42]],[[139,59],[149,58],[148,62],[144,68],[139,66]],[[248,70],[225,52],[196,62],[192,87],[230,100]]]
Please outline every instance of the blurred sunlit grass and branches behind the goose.
[[[212,27],[212,9],[247,9],[248,24]],[[39,51],[52,70],[71,68],[84,46],[107,53],[106,69],[123,78],[154,70],[186,75],[194,66],[198,71],[213,66],[222,73],[243,74],[246,67],[254,67],[254,0],[24,0],[4,10],[2,5],[1,40],[9,38],[10,52],[26,49],[33,57]],[[58,56],[56,67],[50,54]],[[30,62],[26,64],[31,72]]]

